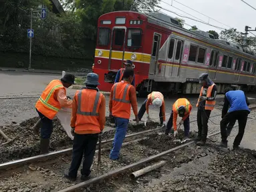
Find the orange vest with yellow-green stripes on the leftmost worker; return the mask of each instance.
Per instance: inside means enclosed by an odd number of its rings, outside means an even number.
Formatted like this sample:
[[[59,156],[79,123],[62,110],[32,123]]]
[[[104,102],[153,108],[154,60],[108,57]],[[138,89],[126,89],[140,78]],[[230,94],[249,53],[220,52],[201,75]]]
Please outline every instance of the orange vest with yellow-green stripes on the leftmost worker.
[[[60,80],[51,81],[35,104],[35,108],[48,119],[53,119],[59,109],[61,109],[59,101],[57,101],[54,95],[55,91],[63,88],[66,94],[66,89],[63,87]]]

